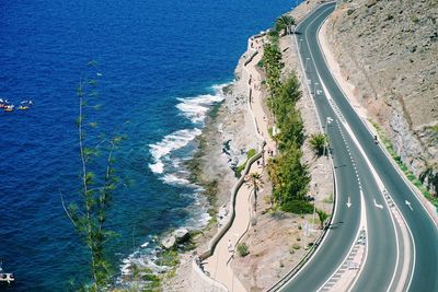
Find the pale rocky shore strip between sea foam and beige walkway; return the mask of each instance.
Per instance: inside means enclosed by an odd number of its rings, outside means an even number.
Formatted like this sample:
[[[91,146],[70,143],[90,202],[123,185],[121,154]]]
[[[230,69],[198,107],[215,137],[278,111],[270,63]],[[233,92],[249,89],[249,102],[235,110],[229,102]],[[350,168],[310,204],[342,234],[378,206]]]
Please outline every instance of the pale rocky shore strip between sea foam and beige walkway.
[[[246,84],[240,78],[244,59],[245,55],[234,71],[234,82],[222,90],[224,101],[210,110],[206,127],[197,138],[198,151],[193,160],[187,162],[192,182],[205,188],[203,195],[207,196],[210,202],[211,220],[205,230],[195,236],[196,248],[181,255],[175,277],[163,282],[164,291],[191,290],[187,275],[192,272],[193,257],[207,248],[218,226],[227,220],[230,190],[238,182],[235,167],[245,161],[250,149],[256,148],[256,139],[252,133],[253,122],[246,107]]]

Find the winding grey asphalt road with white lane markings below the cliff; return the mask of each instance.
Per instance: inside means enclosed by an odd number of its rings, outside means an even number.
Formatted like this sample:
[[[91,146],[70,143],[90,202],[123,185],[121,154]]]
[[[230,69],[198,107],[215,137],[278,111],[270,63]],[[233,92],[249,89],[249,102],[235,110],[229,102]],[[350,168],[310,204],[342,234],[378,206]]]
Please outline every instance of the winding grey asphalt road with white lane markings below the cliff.
[[[330,139],[336,210],[311,260],[285,279],[279,290],[321,289],[348,256],[358,231],[365,229],[367,256],[349,290],[438,291],[438,229],[382,148],[374,143],[321,52],[318,32],[334,8],[328,3],[313,11],[297,26],[296,37],[318,115]],[[366,217],[365,226],[360,217]]]

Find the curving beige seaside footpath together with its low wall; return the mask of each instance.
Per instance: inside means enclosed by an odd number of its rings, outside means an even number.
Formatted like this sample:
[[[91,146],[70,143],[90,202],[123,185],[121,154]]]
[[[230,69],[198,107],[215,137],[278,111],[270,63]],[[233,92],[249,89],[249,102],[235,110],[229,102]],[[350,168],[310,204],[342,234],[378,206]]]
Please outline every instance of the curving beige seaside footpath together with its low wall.
[[[249,40],[250,57],[244,61],[242,79],[247,81],[249,85],[249,109],[253,116],[255,136],[260,140],[261,152],[247,162],[245,171],[231,195],[230,219],[217,236],[211,241],[209,249],[204,253],[194,265],[195,269],[203,267],[206,276],[210,279],[204,279],[211,284],[212,290],[218,291],[246,291],[243,284],[237,279],[232,270],[235,248],[250,229],[251,219],[254,214],[254,198],[252,190],[242,187],[244,175],[249,173],[262,174],[264,171],[264,148],[267,147],[269,155],[275,153],[275,142],[268,135],[267,117],[263,108],[262,78],[256,70],[258,61],[262,59],[264,34],[253,36]],[[256,164],[254,162],[257,162]],[[198,271],[199,272],[199,271]]]

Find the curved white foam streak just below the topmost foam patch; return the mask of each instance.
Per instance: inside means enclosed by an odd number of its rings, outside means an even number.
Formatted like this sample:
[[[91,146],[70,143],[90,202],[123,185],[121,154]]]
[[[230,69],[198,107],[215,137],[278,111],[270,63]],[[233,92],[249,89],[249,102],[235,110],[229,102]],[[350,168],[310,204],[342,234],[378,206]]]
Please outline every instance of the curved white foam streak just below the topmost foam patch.
[[[149,164],[151,171],[155,174],[162,174],[164,172],[163,159],[166,157],[172,151],[187,145],[200,133],[201,130],[197,128],[178,130],[165,136],[158,143],[149,144],[150,153],[153,157],[153,163]]]

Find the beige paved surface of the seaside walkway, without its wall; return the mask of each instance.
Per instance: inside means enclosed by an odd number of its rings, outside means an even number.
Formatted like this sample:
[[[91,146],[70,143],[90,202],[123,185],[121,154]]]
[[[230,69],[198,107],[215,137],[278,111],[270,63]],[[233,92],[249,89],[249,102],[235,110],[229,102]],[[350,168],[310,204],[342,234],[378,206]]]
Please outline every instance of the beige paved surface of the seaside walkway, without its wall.
[[[258,40],[261,42],[261,40]],[[268,122],[267,116],[263,110],[263,98],[262,98],[262,77],[256,70],[258,61],[262,59],[262,46],[258,46],[258,54],[253,60],[246,65],[242,70],[242,79],[249,84],[249,96],[251,96],[251,103],[249,103],[250,109],[254,116],[254,122],[260,139],[266,142],[265,155],[269,155],[269,150],[275,153],[275,142],[269,138],[268,135]],[[250,52],[254,52],[250,50]],[[262,144],[262,141],[260,141]],[[261,159],[261,162],[254,163],[250,170],[250,173],[263,172],[263,162],[265,157]],[[246,291],[239,279],[233,275],[233,255],[235,246],[239,240],[246,233],[250,227],[251,218],[253,214],[252,206],[254,203],[254,197],[252,190],[243,185],[238,191],[235,198],[235,218],[230,230],[223,235],[215,248],[211,257],[204,260],[204,269],[216,281],[223,283],[229,291]],[[238,256],[235,254],[235,256]]]

